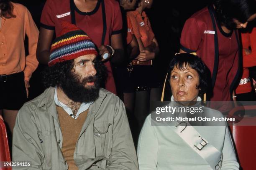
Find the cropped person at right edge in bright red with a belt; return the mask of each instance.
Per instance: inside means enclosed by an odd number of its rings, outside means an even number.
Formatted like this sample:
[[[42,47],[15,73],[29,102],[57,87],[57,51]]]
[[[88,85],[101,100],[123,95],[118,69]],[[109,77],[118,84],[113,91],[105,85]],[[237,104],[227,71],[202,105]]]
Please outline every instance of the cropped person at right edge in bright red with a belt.
[[[236,88],[236,99],[238,101],[256,100],[252,79],[249,76],[248,67],[256,66],[256,28],[251,32],[241,33],[243,45],[243,75]],[[250,50],[251,47],[251,50]]]

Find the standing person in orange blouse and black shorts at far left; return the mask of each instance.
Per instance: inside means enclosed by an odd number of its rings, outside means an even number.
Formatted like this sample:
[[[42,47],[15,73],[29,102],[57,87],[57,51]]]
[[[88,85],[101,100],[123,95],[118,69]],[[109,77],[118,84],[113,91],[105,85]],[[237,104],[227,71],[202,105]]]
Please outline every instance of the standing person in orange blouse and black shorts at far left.
[[[3,111],[11,132],[18,110],[27,100],[29,79],[38,65],[37,40],[38,29],[28,9],[9,0],[0,0],[0,112]]]

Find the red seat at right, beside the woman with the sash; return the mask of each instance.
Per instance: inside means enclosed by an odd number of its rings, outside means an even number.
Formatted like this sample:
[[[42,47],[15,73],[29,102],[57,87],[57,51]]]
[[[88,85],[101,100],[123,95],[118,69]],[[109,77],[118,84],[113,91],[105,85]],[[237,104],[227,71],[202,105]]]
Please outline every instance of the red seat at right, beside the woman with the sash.
[[[256,113],[256,106],[243,106],[234,109],[233,114],[242,109],[246,112],[252,111],[253,115]],[[256,126],[252,126],[256,125],[256,117],[253,115],[252,117],[243,117],[241,122],[230,126],[242,170],[256,170]]]

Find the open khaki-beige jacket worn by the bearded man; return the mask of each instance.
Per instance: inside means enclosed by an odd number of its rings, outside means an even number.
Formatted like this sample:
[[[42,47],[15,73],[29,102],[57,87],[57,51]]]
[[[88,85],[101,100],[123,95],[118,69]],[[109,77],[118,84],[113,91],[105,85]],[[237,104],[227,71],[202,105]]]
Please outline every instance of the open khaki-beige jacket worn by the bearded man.
[[[50,87],[19,110],[13,132],[13,161],[31,162],[31,167],[18,170],[67,170],[61,146],[54,88]],[[89,107],[74,161],[79,170],[138,170],[123,102],[105,89]]]

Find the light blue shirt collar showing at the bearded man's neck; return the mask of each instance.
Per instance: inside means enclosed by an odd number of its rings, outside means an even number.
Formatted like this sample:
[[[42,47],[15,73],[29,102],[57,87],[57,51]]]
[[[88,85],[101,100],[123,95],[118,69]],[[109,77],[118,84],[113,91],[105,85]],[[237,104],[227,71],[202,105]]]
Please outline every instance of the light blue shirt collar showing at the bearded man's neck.
[[[87,110],[90,105],[93,103],[93,102],[89,102],[89,103],[82,103],[80,108],[78,109],[77,111],[77,115],[74,117],[74,114],[71,110],[70,107],[68,107],[67,105],[65,105],[64,103],[62,103],[61,101],[59,101],[58,99],[58,95],[57,95],[57,87],[55,87],[55,92],[54,92],[54,102],[56,105],[62,107],[66,112],[67,114],[69,114],[71,117],[73,117],[74,119],[77,119],[77,117],[80,115],[80,113],[84,112],[85,110]]]

